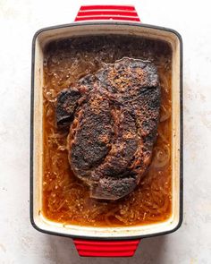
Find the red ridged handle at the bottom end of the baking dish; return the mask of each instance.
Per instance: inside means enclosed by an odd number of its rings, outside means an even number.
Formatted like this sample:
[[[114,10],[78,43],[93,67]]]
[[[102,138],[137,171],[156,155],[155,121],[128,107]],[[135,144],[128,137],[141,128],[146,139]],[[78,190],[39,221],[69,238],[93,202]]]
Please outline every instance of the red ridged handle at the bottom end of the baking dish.
[[[132,257],[140,240],[99,241],[73,239],[81,257]]]

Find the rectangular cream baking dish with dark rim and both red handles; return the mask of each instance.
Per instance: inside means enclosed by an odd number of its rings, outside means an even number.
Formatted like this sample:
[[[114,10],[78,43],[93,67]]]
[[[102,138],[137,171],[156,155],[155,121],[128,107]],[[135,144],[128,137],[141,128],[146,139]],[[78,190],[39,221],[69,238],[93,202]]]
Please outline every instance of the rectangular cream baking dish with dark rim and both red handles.
[[[42,215],[43,51],[49,41],[72,36],[118,34],[167,41],[173,49],[172,73],[172,216],[145,226],[63,226]],[[38,30],[32,42],[30,123],[30,221],[38,231],[73,238],[80,256],[132,256],[140,238],[169,234],[182,221],[182,42],[175,30],[143,24],[131,5],[81,6],[71,24]]]

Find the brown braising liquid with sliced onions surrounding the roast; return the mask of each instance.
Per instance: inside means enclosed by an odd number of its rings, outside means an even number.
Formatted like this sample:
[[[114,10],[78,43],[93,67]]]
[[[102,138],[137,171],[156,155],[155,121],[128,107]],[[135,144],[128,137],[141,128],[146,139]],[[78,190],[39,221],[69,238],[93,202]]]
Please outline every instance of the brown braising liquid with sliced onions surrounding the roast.
[[[124,56],[156,64],[162,92],[160,123],[152,162],[139,186],[116,200],[89,198],[89,187],[75,177],[68,163],[67,131],[55,125],[56,95],[103,63]],[[172,210],[171,168],[172,49],[164,41],[92,36],[50,43],[44,60],[43,214],[56,222],[82,226],[135,226],[164,221]]]

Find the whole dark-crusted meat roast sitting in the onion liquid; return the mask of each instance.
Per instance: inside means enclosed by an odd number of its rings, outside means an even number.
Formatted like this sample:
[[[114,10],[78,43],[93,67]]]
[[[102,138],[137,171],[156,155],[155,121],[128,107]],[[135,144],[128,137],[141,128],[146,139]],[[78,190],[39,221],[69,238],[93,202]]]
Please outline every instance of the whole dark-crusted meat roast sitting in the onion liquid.
[[[156,66],[126,57],[58,95],[56,122],[70,124],[69,162],[91,197],[117,200],[139,184],[156,141],[160,96]]]

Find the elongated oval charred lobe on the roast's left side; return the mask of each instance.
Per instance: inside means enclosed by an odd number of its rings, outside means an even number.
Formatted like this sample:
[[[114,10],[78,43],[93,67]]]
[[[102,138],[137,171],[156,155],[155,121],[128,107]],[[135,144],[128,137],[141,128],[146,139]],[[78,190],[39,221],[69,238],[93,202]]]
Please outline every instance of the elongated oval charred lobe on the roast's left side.
[[[109,101],[92,93],[75,116],[69,134],[69,160],[80,177],[107,155],[112,138]]]

